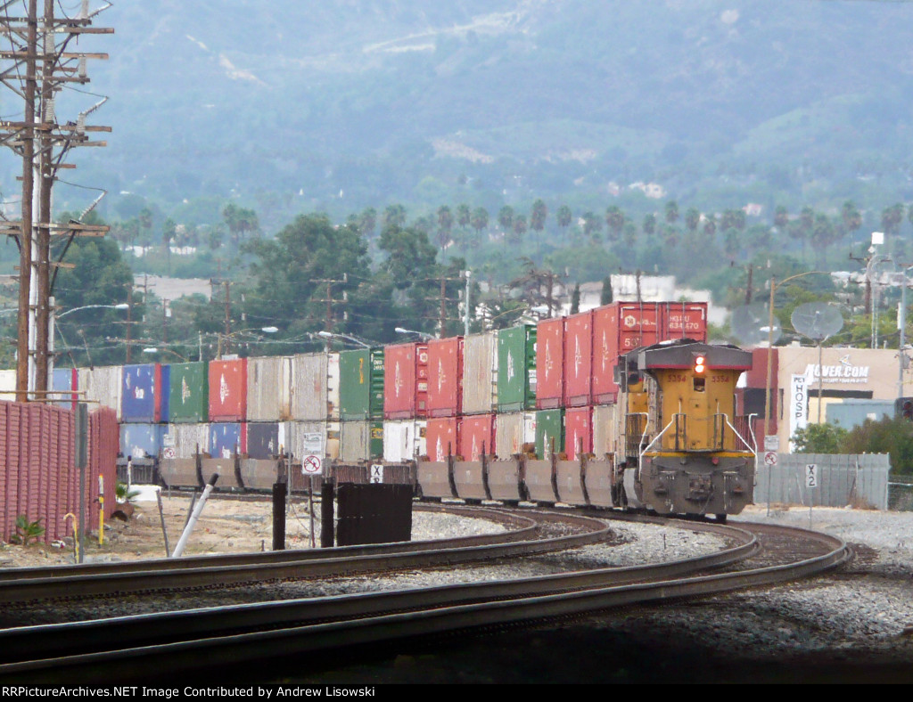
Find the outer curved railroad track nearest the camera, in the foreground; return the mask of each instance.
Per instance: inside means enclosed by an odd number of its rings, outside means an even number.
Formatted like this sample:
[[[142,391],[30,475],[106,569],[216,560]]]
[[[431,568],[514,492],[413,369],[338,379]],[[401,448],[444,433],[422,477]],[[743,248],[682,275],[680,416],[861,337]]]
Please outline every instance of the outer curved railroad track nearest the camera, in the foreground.
[[[816,532],[755,524],[735,528],[689,523],[688,528],[724,534],[736,545],[708,557],[635,568],[5,630],[0,632],[6,661],[0,665],[0,678],[75,683],[103,674],[111,682],[152,679],[151,671],[190,673],[214,661],[226,666],[316,654],[340,646],[519,625],[622,604],[781,583],[833,568],[849,556],[844,542]],[[744,560],[758,555],[759,541],[792,542],[801,557],[791,559],[780,547],[768,548],[762,551],[765,563],[760,568],[746,567]],[[736,569],[684,577],[723,565]]]

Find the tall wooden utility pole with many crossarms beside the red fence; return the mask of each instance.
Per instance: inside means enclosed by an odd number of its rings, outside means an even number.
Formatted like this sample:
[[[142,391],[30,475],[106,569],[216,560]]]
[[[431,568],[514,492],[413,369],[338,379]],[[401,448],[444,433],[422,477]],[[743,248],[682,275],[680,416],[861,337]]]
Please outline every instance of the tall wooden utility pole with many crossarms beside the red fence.
[[[89,132],[110,131],[93,127],[86,118],[104,102],[83,110],[76,120],[58,123],[57,95],[71,85],[89,83],[88,58],[106,54],[68,52],[73,38],[89,34],[111,34],[113,29],[92,27],[89,0],[82,0],[75,17],[56,15],[54,0],[43,0],[38,15],[37,0],[0,0],[5,13],[0,33],[8,48],[0,51],[0,83],[24,103],[23,121],[0,120],[0,144],[22,158],[22,219],[0,222],[0,234],[16,237],[19,244],[19,318],[16,358],[16,399],[26,401],[30,393],[44,397],[50,370],[51,286],[53,276],[50,243],[54,236],[104,235],[108,227],[90,227],[82,217],[68,225],[52,221],[53,187],[58,170],[75,168],[65,163],[68,151],[77,146],[105,146],[90,141]],[[20,12],[10,12],[13,5]],[[61,9],[62,12],[62,9]],[[107,98],[105,98],[107,99]],[[7,110],[15,112],[15,108]],[[73,226],[75,225],[75,226]]]

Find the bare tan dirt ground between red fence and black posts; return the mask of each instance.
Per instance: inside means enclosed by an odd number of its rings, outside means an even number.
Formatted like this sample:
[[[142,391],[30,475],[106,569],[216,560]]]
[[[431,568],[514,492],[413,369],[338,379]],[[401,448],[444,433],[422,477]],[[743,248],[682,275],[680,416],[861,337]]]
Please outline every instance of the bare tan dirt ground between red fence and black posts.
[[[148,499],[152,497],[152,499]],[[191,493],[162,492],[162,505],[168,544],[173,551],[190,511]],[[86,539],[85,562],[135,561],[165,557],[162,521],[154,493],[148,491],[133,502],[129,521],[105,522],[104,543],[99,544],[98,524],[92,524]],[[315,540],[320,545],[320,506],[315,503]],[[217,493],[205,504],[196,522],[184,555],[241,553],[272,549],[272,502],[220,497]],[[286,512],[286,547],[310,547],[310,512],[307,497],[295,496]],[[30,543],[27,546],[0,544],[0,568],[46,566],[74,563],[73,540],[56,545]]]

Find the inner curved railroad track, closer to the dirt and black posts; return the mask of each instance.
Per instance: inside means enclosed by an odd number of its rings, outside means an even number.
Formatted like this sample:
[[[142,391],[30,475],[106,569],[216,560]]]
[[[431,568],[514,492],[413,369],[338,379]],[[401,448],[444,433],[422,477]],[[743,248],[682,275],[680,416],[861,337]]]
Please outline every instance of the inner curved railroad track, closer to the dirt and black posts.
[[[334,549],[197,556],[157,561],[63,565],[0,570],[0,604],[72,600],[93,595],[225,588],[330,575],[432,568],[575,548],[603,541],[608,527],[593,517],[547,511],[518,513],[490,508],[422,505],[488,519],[508,532],[428,542],[388,543]],[[561,524],[561,535],[549,527]],[[544,532],[544,533],[543,533]]]

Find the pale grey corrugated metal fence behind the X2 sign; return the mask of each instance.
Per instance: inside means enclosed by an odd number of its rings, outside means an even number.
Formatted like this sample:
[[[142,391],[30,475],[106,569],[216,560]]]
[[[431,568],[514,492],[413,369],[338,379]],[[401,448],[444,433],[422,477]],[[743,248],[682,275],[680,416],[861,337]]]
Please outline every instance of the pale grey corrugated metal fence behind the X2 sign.
[[[761,465],[754,489],[756,504],[809,504],[823,507],[874,507],[887,510],[887,454],[842,455],[782,453],[771,470]],[[805,467],[818,467],[818,487],[806,487]],[[770,485],[770,489],[768,486]]]

